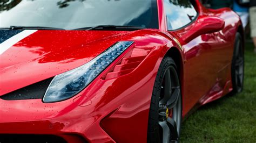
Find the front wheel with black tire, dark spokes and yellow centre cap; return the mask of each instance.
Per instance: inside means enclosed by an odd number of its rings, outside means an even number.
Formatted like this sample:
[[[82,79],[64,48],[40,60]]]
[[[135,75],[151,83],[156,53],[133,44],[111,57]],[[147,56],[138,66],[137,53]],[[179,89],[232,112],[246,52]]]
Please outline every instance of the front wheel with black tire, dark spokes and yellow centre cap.
[[[147,142],[178,142],[182,102],[177,66],[165,57],[158,69],[150,104]]]

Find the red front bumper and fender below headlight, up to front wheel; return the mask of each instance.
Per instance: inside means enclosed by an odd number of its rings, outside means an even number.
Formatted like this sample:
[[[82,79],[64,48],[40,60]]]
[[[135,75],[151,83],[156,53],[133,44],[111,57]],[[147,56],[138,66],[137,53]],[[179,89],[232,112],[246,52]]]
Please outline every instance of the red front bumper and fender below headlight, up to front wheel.
[[[161,62],[155,55],[164,52],[151,52],[125,76],[110,80],[99,76],[66,101],[0,99],[0,134],[48,134],[68,142],[146,142],[151,95]]]

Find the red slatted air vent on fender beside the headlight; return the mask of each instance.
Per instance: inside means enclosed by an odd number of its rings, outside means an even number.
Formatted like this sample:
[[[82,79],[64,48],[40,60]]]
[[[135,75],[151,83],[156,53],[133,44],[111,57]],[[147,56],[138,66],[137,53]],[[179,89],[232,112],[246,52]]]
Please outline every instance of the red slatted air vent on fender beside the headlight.
[[[134,48],[136,49],[136,48]],[[134,54],[136,50],[130,51],[109,73],[106,74],[105,80],[116,78],[118,76],[126,75],[136,69],[139,64],[146,58],[147,53],[138,55]]]

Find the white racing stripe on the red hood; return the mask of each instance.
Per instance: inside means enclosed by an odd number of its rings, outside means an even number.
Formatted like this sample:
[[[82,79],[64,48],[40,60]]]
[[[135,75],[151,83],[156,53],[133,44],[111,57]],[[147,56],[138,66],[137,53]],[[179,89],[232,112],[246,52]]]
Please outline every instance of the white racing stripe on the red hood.
[[[10,47],[14,46],[18,41],[28,37],[29,35],[35,33],[37,30],[24,30],[13,37],[5,40],[0,44],[0,55],[7,51]]]

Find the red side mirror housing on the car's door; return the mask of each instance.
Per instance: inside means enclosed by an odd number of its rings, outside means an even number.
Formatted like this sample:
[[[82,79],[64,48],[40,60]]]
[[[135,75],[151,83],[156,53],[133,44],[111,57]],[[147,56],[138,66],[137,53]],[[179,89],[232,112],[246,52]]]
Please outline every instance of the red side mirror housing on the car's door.
[[[189,42],[192,39],[198,37],[199,35],[223,30],[224,26],[225,21],[219,17],[199,17],[196,23],[193,24],[192,28],[183,35],[182,40],[185,42]]]

